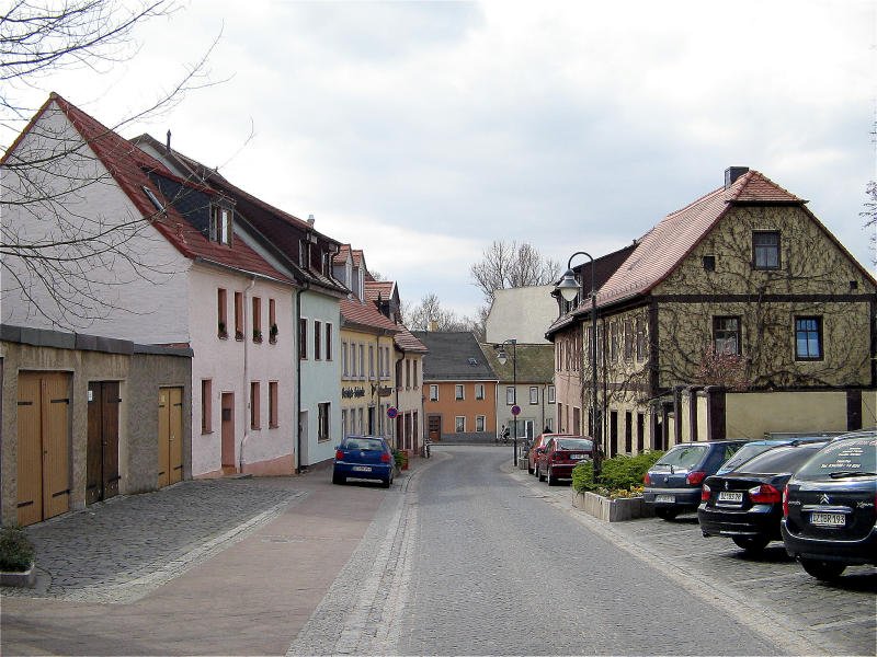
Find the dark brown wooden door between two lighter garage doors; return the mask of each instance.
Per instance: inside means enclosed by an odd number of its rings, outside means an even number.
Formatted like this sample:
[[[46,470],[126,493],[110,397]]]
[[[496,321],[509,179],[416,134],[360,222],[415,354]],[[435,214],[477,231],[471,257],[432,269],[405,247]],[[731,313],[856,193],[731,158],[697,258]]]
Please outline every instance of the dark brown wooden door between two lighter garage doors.
[[[118,381],[89,383],[86,504],[118,495]]]

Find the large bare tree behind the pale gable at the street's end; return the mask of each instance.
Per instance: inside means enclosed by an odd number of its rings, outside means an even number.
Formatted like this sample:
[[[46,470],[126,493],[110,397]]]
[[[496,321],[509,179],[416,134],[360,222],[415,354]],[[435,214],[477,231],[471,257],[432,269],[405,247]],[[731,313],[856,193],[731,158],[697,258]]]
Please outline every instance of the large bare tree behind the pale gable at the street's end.
[[[470,268],[472,280],[489,306],[497,290],[554,283],[560,264],[543,256],[531,244],[494,240],[481,261]]]

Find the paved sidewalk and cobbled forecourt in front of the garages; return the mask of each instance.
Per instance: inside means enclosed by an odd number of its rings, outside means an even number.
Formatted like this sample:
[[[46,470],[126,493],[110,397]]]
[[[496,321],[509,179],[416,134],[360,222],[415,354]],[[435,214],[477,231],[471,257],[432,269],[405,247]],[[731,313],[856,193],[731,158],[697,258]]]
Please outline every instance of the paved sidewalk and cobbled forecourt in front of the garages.
[[[190,481],[33,526],[37,587],[0,589],[0,652],[284,655],[411,472]]]

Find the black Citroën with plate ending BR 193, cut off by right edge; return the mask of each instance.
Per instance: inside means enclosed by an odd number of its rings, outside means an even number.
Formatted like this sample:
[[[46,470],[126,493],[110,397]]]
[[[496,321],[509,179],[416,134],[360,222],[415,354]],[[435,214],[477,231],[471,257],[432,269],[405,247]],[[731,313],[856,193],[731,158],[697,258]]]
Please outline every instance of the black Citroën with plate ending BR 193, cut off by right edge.
[[[835,438],[805,463],[783,495],[783,542],[809,575],[833,579],[877,565],[877,431]]]

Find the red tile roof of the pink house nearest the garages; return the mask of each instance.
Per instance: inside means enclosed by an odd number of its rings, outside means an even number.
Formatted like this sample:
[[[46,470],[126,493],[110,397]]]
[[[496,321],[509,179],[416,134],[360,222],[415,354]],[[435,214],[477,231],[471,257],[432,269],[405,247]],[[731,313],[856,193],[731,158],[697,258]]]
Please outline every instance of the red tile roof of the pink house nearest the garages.
[[[64,112],[143,217],[149,219],[168,242],[185,257],[203,260],[246,273],[261,274],[277,280],[292,283],[241,240],[234,241],[232,246],[229,247],[212,242],[204,237],[201,231],[176,211],[173,205],[163,198],[158,186],[153,184],[147,172],[159,173],[209,195],[215,195],[215,191],[182,181],[159,161],[128,140],[123,139],[115,131],[58,94],[53,93],[38,114],[45,112],[53,102]],[[166,210],[163,214],[157,212],[156,207],[144,193],[144,187],[149,188],[158,199],[164,200]]]

